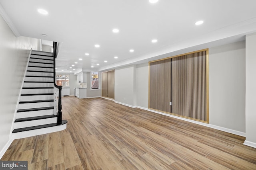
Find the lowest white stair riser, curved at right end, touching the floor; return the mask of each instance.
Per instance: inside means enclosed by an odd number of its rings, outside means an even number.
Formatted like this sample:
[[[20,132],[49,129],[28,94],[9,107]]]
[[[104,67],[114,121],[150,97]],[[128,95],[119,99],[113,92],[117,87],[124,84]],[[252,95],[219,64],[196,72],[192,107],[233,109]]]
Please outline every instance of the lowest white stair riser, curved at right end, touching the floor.
[[[54,127],[35,129],[35,130],[31,130],[31,131],[12,133],[12,138],[20,139],[20,138],[24,138],[24,137],[32,137],[32,136],[36,136],[36,135],[43,135],[46,133],[58,132],[58,131],[62,131],[64,129],[66,129],[66,127],[67,127],[67,124],[64,124],[64,125],[59,125],[59,126],[54,126]]]

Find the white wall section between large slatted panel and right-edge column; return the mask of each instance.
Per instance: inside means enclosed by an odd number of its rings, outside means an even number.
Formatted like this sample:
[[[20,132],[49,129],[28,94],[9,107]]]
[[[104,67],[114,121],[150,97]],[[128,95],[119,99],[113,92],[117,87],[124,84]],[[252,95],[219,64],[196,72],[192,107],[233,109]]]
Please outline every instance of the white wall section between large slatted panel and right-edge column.
[[[210,124],[245,132],[245,41],[209,49]]]

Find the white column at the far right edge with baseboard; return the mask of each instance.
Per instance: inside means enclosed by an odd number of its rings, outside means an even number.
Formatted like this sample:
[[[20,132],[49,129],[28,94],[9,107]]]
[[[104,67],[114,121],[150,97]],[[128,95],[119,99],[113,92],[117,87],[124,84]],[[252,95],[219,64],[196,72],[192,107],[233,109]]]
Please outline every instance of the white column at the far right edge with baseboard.
[[[245,117],[244,145],[256,148],[256,33],[246,35]]]

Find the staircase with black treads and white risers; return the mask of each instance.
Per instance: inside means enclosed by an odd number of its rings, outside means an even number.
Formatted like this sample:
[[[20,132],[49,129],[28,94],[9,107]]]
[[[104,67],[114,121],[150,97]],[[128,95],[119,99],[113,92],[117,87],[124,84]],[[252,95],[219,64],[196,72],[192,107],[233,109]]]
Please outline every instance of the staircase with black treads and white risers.
[[[53,53],[31,52],[12,131],[14,139],[66,129],[66,120],[57,121],[54,69]]]

